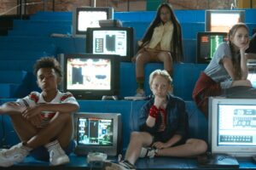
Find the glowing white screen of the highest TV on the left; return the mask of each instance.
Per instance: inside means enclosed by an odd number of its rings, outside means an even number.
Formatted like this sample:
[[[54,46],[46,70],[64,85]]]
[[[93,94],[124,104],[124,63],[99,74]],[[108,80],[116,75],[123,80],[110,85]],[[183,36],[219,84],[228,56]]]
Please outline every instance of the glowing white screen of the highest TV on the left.
[[[79,11],[78,30],[86,31],[88,27],[100,27],[99,20],[107,20],[106,11]]]

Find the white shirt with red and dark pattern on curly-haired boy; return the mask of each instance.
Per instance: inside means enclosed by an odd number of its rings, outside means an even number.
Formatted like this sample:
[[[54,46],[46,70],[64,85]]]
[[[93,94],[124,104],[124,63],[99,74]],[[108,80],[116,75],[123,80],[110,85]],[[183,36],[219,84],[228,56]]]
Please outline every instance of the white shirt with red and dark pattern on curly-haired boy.
[[[43,94],[38,92],[32,92],[31,94],[27,95],[23,99],[17,99],[16,101],[21,106],[24,107],[33,107],[38,104],[62,104],[62,103],[71,103],[74,105],[79,105],[77,100],[73,97],[73,94],[61,93],[60,91],[57,92],[55,99],[52,99],[50,102],[46,102],[44,100]],[[55,116],[55,112],[52,111],[43,111],[41,113],[42,123],[41,127],[46,127],[50,121],[50,119]]]

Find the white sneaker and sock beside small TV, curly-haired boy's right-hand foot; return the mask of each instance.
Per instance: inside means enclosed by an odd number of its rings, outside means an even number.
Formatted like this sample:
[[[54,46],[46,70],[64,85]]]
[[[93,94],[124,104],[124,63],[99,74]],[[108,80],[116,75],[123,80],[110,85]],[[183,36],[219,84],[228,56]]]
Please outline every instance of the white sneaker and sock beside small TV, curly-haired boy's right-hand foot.
[[[57,140],[46,144],[45,147],[49,151],[49,165],[58,166],[69,162],[69,158]]]

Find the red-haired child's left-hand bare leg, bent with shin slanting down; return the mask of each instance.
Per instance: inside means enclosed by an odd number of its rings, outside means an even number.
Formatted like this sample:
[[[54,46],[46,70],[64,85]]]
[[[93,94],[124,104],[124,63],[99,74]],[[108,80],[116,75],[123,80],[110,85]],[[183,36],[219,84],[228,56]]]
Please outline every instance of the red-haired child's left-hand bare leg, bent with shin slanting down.
[[[153,137],[149,133],[132,132],[130,143],[128,145],[125,160],[134,165],[137,158],[140,156],[143,146],[148,146],[152,143]]]

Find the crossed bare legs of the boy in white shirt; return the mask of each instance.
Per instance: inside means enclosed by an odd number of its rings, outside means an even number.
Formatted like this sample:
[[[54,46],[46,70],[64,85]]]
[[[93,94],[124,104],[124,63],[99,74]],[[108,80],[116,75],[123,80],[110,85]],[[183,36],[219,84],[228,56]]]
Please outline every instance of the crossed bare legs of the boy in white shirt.
[[[16,133],[20,140],[26,141],[26,146],[36,148],[48,144],[52,139],[60,140],[62,147],[66,147],[73,134],[73,122],[70,113],[56,113],[44,128],[33,127],[22,116],[11,116]],[[22,122],[19,122],[22,121]]]

